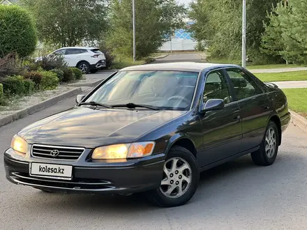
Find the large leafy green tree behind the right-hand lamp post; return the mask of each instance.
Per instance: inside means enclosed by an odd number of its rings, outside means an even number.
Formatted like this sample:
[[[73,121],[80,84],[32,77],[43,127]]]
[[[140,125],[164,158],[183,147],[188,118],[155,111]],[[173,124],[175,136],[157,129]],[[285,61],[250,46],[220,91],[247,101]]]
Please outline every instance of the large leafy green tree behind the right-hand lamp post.
[[[246,2],[246,52],[254,62],[269,59],[260,52],[267,22],[267,11],[278,0],[250,0]],[[242,1],[197,0],[190,5],[189,17],[195,20],[190,31],[197,41],[209,45],[211,56],[239,60],[241,58]]]

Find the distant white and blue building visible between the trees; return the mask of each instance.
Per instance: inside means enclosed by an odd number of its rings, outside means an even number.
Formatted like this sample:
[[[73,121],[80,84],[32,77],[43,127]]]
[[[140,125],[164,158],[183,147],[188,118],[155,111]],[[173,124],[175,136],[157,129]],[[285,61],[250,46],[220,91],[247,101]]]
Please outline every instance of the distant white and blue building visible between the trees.
[[[194,22],[186,22],[187,27]],[[197,45],[197,41],[193,40],[193,37],[186,29],[177,29],[172,34],[169,41],[164,43],[160,47],[160,51],[170,52],[170,51],[194,51]]]

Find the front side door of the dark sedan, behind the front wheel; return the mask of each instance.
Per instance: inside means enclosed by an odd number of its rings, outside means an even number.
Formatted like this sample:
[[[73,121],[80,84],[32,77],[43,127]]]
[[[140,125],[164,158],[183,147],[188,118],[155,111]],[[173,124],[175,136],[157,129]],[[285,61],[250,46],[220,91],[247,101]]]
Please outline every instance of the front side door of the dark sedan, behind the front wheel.
[[[206,77],[201,104],[209,99],[223,99],[225,107],[200,114],[204,135],[204,153],[200,159],[202,167],[237,154],[241,149],[240,109],[233,100],[223,70],[209,72]]]

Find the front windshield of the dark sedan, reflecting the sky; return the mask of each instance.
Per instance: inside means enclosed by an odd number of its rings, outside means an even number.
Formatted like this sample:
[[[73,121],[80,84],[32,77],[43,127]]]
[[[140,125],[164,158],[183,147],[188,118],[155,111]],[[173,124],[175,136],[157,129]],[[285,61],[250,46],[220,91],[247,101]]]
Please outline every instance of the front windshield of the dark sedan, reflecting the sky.
[[[134,103],[159,109],[188,110],[198,72],[122,71],[105,82],[86,102],[105,105]]]

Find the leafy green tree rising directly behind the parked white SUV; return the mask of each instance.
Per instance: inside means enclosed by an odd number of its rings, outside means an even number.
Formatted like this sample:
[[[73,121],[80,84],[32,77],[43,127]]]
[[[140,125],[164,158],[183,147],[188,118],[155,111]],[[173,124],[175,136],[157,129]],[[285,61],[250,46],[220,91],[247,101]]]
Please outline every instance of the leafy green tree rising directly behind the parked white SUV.
[[[41,41],[57,46],[75,46],[98,40],[107,29],[107,1],[22,0],[36,17]]]

